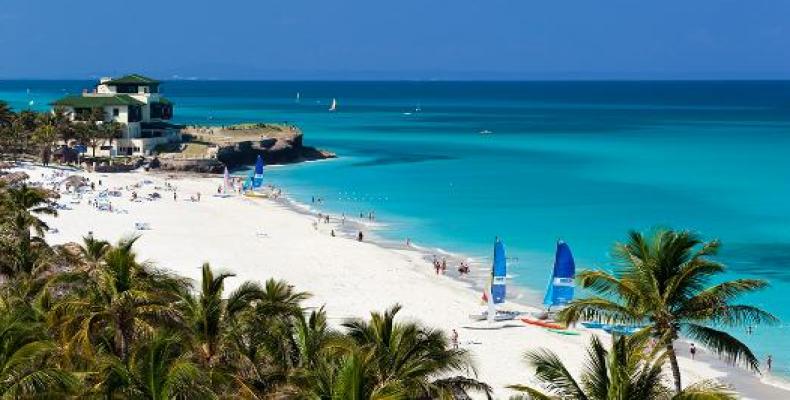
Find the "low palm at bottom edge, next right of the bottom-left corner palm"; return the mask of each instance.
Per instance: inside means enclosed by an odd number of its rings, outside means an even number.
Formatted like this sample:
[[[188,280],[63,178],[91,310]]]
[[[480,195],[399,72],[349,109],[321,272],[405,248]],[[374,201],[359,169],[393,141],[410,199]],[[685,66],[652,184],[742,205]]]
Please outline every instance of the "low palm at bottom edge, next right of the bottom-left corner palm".
[[[141,342],[124,362],[115,355],[99,357],[99,373],[91,392],[103,398],[147,400],[216,399],[205,373],[190,359],[183,338],[157,332]]]

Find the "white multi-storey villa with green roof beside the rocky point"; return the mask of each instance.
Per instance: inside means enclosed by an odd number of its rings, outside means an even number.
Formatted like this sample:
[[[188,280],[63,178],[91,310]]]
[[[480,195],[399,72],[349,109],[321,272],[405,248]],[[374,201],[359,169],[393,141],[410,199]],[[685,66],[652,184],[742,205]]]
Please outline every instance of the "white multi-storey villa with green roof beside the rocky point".
[[[101,121],[123,126],[120,138],[102,143],[97,155],[148,155],[160,144],[181,141],[181,126],[172,124],[173,103],[159,92],[161,82],[132,74],[101,78],[94,89],[52,103],[72,121]]]

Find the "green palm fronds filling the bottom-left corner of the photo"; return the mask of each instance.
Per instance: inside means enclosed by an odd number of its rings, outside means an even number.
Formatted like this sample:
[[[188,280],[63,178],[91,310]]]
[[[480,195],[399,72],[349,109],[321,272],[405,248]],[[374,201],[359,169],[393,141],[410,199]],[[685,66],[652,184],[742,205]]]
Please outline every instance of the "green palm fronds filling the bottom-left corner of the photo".
[[[0,397],[67,398],[79,381],[59,368],[58,348],[24,301],[0,301]]]

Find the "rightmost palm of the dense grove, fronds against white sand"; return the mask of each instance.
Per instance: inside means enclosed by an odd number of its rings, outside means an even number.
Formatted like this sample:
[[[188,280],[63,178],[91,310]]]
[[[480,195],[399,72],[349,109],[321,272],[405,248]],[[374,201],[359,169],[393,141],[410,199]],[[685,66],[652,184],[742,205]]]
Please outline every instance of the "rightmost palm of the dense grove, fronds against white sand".
[[[398,388],[405,398],[452,398],[458,391],[476,390],[490,397],[490,387],[463,377],[450,377],[457,372],[474,372],[469,353],[454,349],[447,336],[438,330],[416,323],[397,323],[400,311],[395,305],[381,313],[371,313],[371,320],[349,320],[343,323],[348,338],[360,352],[352,353],[347,362],[357,364],[375,387]],[[358,371],[361,372],[361,371]],[[341,379],[342,381],[342,379]]]

